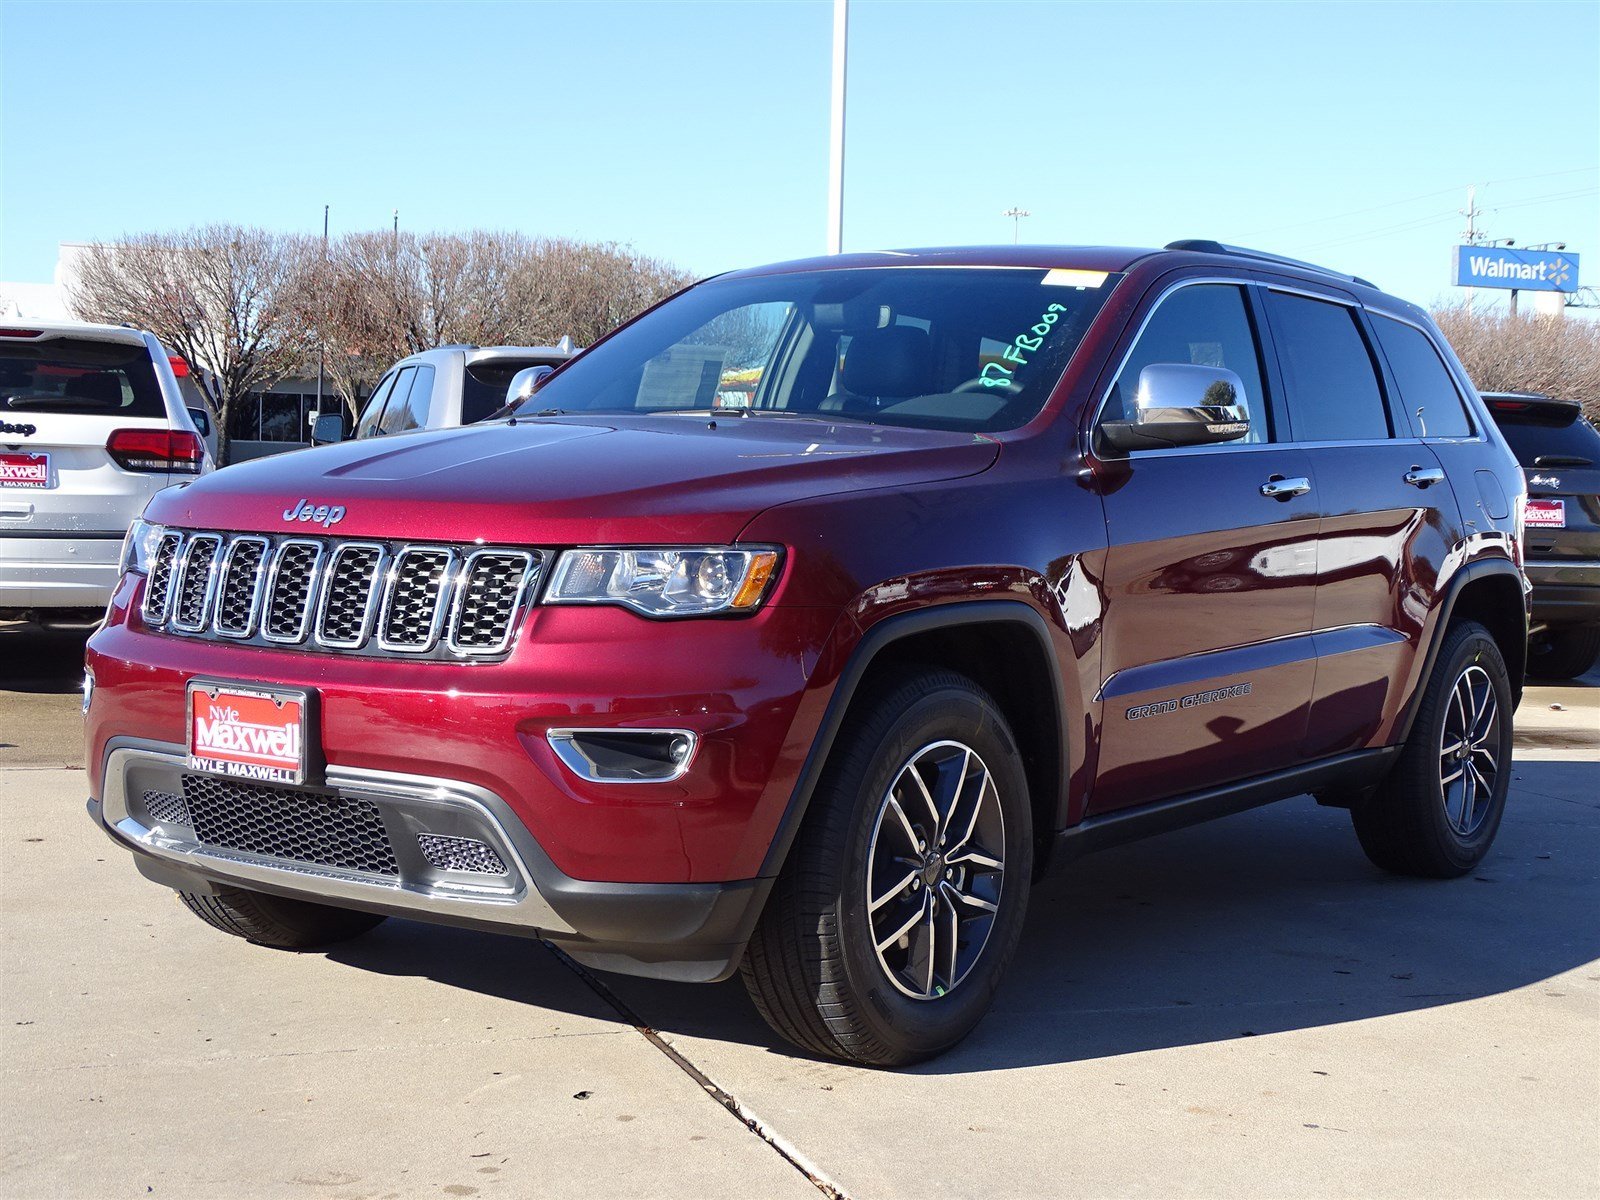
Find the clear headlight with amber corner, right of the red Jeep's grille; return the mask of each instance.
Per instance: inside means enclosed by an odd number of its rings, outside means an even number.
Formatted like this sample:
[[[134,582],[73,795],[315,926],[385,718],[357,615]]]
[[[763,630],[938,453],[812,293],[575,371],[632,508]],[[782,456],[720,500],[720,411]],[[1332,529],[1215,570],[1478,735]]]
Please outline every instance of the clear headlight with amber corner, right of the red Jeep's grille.
[[[778,550],[722,546],[566,550],[549,605],[626,605],[645,616],[749,613],[778,573]]]

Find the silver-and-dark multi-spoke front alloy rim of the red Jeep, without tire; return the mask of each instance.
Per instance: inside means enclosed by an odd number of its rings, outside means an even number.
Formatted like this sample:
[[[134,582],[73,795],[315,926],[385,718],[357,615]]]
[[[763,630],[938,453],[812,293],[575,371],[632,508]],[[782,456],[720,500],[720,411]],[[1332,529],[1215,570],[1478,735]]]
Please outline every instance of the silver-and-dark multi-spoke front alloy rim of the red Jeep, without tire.
[[[867,850],[867,923],[898,990],[936,1000],[989,942],[1005,885],[1005,814],[970,746],[917,750],[878,803]]]

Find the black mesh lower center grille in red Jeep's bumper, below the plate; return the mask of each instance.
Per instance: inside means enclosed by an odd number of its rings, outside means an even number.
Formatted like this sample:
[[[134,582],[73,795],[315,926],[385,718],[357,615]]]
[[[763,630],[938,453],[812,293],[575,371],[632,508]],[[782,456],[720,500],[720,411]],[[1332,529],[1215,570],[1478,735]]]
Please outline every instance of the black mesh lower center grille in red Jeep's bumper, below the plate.
[[[186,774],[184,802],[202,846],[371,875],[400,874],[371,800]]]

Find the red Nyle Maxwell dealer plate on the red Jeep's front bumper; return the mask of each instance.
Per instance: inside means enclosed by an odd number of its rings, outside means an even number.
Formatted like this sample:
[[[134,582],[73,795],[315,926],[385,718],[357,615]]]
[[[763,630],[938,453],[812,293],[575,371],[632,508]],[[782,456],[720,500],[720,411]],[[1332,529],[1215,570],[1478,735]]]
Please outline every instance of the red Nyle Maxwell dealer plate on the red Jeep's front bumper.
[[[309,712],[306,691],[192,682],[189,770],[301,784],[309,757]]]

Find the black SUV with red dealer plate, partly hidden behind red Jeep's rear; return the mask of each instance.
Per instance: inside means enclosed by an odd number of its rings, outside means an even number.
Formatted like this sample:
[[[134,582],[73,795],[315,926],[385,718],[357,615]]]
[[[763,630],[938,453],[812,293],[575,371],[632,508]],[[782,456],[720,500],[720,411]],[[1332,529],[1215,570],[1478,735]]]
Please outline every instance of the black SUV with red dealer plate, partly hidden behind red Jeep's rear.
[[[1528,674],[1578,678],[1600,659],[1600,430],[1576,400],[1483,398],[1528,478]]]

